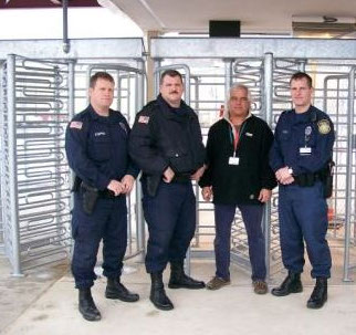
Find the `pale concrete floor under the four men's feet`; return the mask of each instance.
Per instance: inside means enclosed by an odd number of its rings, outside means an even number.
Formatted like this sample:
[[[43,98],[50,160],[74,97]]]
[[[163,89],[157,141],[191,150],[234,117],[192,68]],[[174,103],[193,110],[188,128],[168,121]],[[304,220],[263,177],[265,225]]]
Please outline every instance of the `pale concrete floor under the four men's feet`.
[[[304,292],[285,297],[252,292],[249,274],[231,266],[232,284],[220,291],[169,290],[175,310],[156,310],[148,300],[149,280],[142,263],[130,261],[123,282],[140,294],[137,303],[104,297],[105,279],[100,278],[93,296],[102,312],[91,323],[77,312],[77,292],[67,264],[38,269],[24,278],[11,278],[0,259],[0,333],[7,335],[91,334],[337,334],[355,332],[356,286],[329,285],[324,308],[311,311],[305,303],[313,290],[304,274]],[[212,261],[193,260],[192,275],[208,281]],[[168,271],[166,271],[168,272]],[[168,274],[168,273],[167,273]],[[167,275],[166,274],[166,275]],[[282,276],[281,276],[282,278]],[[167,278],[166,278],[167,281]],[[275,284],[275,283],[274,283]],[[272,284],[271,286],[273,286]]]

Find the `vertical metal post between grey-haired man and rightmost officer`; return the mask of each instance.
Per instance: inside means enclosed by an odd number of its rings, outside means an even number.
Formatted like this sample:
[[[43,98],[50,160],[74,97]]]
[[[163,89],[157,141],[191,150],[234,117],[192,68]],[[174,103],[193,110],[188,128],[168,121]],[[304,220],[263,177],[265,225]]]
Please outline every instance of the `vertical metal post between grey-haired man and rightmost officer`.
[[[265,122],[272,126],[273,118],[273,54],[268,52],[264,54],[263,62],[263,105],[264,105],[264,117]],[[264,207],[263,216],[263,227],[264,227],[264,250],[265,250],[265,268],[266,268],[266,279],[270,279],[271,274],[271,262],[270,262],[270,244],[271,244],[271,201],[269,201]]]

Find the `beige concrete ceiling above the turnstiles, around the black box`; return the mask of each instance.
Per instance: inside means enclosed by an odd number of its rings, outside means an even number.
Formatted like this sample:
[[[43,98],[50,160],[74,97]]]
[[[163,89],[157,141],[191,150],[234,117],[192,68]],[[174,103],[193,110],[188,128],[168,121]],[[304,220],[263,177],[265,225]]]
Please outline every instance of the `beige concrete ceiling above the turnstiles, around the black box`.
[[[144,31],[208,33],[209,20],[240,20],[242,34],[292,33],[292,17],[356,18],[356,0],[98,0]]]

